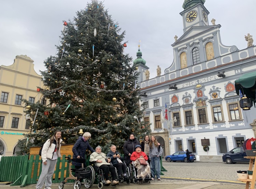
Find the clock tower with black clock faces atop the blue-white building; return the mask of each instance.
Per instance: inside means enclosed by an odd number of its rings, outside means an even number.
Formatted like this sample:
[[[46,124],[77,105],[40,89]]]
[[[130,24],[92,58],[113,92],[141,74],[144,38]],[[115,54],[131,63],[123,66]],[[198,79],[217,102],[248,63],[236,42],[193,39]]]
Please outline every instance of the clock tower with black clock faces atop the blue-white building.
[[[192,26],[209,26],[209,11],[204,7],[205,0],[185,0],[182,7],[184,11],[180,14],[183,17],[183,31],[188,31]]]

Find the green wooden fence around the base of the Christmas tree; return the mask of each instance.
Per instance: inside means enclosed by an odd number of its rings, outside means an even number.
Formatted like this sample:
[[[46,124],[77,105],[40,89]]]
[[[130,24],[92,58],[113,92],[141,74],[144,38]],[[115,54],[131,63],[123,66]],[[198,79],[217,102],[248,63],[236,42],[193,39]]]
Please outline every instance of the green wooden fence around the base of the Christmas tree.
[[[71,158],[71,155],[68,155]],[[2,157],[0,161],[0,182],[10,182],[11,186],[25,187],[30,184],[37,184],[39,176],[42,171],[42,161],[39,155],[30,156],[8,156]],[[52,177],[53,183],[59,183],[63,181],[66,177],[69,177],[69,164],[68,160],[65,159],[66,155],[62,158],[57,159],[56,169],[54,176]],[[86,158],[86,166],[89,164],[88,156]],[[161,175],[162,171],[166,171],[161,164]],[[68,180],[68,182],[74,182],[74,180]]]

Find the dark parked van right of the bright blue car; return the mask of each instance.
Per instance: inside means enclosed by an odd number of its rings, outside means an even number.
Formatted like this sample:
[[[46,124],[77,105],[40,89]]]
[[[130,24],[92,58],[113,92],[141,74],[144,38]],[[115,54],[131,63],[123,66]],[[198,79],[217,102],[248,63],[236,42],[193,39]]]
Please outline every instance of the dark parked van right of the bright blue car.
[[[237,163],[237,162],[249,162],[250,159],[244,158],[246,153],[243,147],[236,147],[231,149],[229,152],[223,154],[222,161],[228,164]]]

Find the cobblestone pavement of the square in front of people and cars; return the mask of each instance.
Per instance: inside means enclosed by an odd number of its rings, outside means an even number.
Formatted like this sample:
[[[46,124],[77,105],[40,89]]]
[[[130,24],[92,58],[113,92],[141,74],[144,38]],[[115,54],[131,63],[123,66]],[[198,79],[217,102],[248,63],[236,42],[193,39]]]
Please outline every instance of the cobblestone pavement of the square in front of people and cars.
[[[238,182],[237,171],[247,170],[248,164],[226,164],[222,162],[166,162],[163,167],[168,170],[163,172],[161,180],[152,180],[151,184],[120,183],[116,189],[244,189],[245,184]],[[0,183],[1,184],[1,183]],[[52,189],[58,189],[58,184],[53,184]],[[97,189],[93,185],[91,189]],[[113,187],[103,187],[103,189]],[[20,189],[20,186],[0,185],[0,189]],[[28,185],[25,189],[35,189],[35,185]],[[44,189],[44,188],[42,188]],[[73,183],[66,183],[63,189],[73,189]],[[81,189],[85,189],[84,186]]]

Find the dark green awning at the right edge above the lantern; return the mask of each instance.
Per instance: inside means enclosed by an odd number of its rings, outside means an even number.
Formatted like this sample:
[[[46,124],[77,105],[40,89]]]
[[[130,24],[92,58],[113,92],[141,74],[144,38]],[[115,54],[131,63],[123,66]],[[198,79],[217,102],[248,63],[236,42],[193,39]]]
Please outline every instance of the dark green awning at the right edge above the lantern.
[[[241,90],[243,95],[246,95],[251,101],[254,102],[255,106],[255,90],[256,90],[256,72],[251,72],[242,75],[239,79],[235,81],[236,92],[239,95],[239,90]]]

